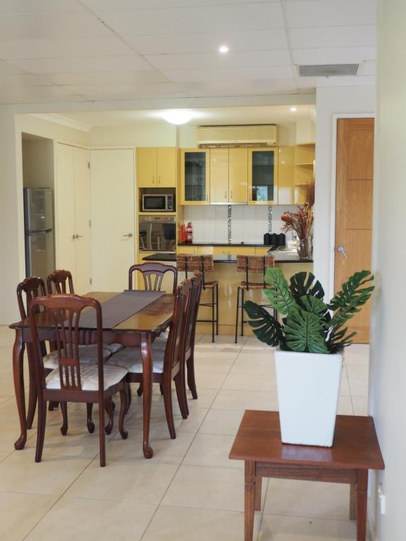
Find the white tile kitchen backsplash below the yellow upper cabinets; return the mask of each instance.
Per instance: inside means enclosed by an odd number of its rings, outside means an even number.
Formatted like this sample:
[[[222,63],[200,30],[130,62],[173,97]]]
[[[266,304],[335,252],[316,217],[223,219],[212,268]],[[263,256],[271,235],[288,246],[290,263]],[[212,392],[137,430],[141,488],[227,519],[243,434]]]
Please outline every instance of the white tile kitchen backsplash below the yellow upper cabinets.
[[[273,205],[271,232],[280,233],[281,216],[296,206]],[[185,206],[185,223],[193,224],[194,242],[228,242],[227,205]],[[268,206],[231,205],[231,242],[263,242],[269,227]],[[287,240],[292,237],[288,233]]]

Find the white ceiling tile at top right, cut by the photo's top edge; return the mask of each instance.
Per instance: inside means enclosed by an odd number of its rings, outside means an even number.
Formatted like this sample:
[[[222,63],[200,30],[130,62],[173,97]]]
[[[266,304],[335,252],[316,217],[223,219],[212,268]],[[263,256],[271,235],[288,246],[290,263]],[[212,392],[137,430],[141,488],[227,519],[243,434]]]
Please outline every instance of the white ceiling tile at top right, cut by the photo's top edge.
[[[376,20],[375,0],[286,1],[288,27],[371,25]]]

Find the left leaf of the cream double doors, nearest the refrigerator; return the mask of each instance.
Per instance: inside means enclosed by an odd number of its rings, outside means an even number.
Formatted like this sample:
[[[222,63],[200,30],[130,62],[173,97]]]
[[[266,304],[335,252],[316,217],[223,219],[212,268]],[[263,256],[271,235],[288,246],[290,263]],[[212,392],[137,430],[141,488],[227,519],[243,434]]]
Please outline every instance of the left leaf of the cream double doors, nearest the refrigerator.
[[[56,143],[55,264],[75,272],[74,147]],[[47,276],[42,278],[46,279]],[[73,277],[75,278],[75,277]],[[75,283],[75,282],[74,282]]]

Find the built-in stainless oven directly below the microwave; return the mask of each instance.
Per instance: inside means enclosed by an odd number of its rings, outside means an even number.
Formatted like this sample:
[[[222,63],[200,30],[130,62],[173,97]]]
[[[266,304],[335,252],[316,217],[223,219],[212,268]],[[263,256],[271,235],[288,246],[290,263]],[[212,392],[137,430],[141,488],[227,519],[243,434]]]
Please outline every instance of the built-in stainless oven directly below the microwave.
[[[140,216],[140,251],[176,253],[176,216]]]

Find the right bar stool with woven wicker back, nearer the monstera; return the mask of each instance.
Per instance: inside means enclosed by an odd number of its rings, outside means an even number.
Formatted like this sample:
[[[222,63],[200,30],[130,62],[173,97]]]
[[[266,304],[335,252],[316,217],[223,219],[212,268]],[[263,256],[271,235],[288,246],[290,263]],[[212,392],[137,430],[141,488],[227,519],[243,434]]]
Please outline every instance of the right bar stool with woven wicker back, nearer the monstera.
[[[241,336],[244,336],[244,292],[250,290],[271,289],[271,286],[265,282],[265,273],[267,268],[275,266],[273,256],[237,256],[237,272],[245,273],[245,280],[240,282],[237,288],[237,311],[235,313],[235,344],[237,344],[238,335],[238,312],[240,310],[240,292],[241,292]],[[250,282],[250,273],[262,273],[262,282]],[[273,308],[271,304],[261,304],[264,308]],[[276,310],[273,308],[273,316],[276,317]]]

